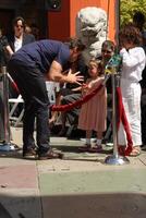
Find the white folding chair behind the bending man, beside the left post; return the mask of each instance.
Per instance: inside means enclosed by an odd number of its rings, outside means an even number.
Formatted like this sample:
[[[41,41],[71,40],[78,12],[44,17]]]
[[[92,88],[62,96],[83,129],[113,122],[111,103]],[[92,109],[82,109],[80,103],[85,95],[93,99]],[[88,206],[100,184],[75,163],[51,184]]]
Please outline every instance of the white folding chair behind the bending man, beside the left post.
[[[17,98],[9,98],[9,106],[10,106],[9,107],[10,108],[9,119],[10,119],[10,122],[14,123],[15,128],[22,121],[22,118],[23,118],[23,114],[24,114],[24,108],[23,108],[17,117],[14,116],[19,104],[24,104],[24,100],[23,100],[21,95],[19,95]]]

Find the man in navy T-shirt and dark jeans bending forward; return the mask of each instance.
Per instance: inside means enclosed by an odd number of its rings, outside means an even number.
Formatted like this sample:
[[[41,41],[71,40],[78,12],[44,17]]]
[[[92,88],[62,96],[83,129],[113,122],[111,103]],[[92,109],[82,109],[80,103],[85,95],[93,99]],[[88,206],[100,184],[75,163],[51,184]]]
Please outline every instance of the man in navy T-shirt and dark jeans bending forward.
[[[60,83],[83,81],[78,72],[63,74],[70,63],[76,61],[85,46],[78,39],[71,39],[69,45],[54,40],[39,40],[22,47],[9,62],[9,73],[16,82],[25,102],[23,120],[23,156],[36,155],[34,122],[36,117],[36,142],[38,158],[58,158],[59,154],[49,145],[49,100],[46,78]]]

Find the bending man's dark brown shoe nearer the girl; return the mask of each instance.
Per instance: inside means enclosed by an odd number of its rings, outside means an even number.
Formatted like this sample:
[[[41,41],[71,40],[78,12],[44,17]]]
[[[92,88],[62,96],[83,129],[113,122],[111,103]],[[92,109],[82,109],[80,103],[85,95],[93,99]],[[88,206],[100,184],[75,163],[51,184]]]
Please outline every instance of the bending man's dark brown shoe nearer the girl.
[[[47,159],[62,159],[63,158],[63,154],[62,153],[57,153],[53,152],[52,149],[49,149],[47,153],[45,154],[39,154],[38,155],[38,159],[39,160],[47,160]]]

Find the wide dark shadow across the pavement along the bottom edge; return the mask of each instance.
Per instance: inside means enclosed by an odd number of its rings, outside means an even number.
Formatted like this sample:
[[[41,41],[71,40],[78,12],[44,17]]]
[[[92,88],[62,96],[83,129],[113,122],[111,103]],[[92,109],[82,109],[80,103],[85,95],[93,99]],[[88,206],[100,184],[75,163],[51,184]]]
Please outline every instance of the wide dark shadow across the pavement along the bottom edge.
[[[136,193],[1,195],[0,201],[1,218],[146,218],[146,195]]]

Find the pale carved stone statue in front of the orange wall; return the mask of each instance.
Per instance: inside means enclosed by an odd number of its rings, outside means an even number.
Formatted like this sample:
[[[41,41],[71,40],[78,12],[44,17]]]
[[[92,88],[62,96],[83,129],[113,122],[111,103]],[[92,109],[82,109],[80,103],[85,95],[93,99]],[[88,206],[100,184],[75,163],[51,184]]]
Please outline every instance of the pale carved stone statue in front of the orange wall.
[[[90,58],[100,57],[101,44],[107,39],[107,13],[96,7],[78,11],[76,16],[76,36],[86,45],[83,52],[85,63]]]

